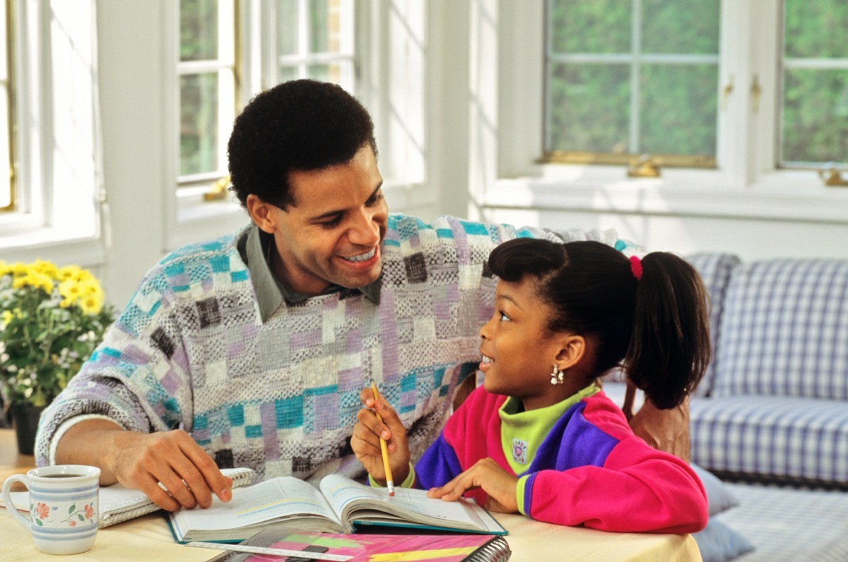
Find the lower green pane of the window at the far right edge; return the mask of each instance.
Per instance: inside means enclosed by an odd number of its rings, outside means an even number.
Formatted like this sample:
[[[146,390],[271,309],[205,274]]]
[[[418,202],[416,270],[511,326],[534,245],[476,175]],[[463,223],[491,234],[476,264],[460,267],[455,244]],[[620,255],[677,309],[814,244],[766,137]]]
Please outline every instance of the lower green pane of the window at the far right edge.
[[[848,69],[784,72],[783,160],[848,162]]]

